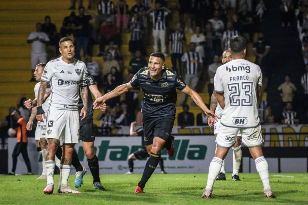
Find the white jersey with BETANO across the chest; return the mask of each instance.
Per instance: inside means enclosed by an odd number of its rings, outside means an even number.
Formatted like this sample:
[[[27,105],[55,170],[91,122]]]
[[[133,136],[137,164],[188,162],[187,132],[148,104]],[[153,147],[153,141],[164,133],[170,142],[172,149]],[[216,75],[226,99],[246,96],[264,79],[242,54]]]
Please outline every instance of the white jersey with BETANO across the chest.
[[[87,86],[86,72],[85,63],[76,59],[71,64],[62,57],[49,61],[41,78],[51,85],[49,108],[78,111],[79,86]]]

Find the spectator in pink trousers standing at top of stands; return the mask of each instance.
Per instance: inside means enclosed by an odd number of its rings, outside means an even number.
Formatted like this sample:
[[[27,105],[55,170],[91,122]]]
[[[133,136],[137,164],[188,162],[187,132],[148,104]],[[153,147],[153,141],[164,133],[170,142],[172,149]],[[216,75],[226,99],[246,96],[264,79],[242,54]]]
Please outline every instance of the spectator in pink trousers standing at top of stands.
[[[116,7],[116,26],[121,30],[125,31],[128,28],[128,5],[125,0],[119,0]],[[122,25],[122,26],[121,26]]]

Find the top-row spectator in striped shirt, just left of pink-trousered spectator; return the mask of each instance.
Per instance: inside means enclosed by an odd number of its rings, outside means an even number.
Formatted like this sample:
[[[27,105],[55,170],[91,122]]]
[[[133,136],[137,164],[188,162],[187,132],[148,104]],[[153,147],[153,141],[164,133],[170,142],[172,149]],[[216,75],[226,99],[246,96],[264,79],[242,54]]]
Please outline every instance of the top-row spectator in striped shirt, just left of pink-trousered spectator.
[[[96,29],[99,30],[103,22],[110,20],[114,23],[115,5],[112,1],[102,0],[97,6],[97,15],[95,17]]]

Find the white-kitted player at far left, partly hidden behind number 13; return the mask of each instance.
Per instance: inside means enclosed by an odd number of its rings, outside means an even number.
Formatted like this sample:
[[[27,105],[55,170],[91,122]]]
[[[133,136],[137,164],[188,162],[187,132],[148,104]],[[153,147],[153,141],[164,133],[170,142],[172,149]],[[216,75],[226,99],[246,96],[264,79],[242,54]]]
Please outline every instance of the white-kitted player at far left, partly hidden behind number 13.
[[[36,65],[35,71],[34,71],[34,78],[36,80],[41,80],[44,68],[46,66],[46,63],[39,63],[38,65]],[[38,82],[35,86],[34,86],[34,95],[35,95],[35,99],[32,101],[31,99],[25,101],[25,106],[27,107],[28,104],[35,104],[37,103],[37,96],[39,93],[39,86],[40,86],[40,82]],[[50,84],[47,85],[46,91],[45,91],[45,96],[44,96],[44,101],[49,100],[49,94],[50,94]],[[43,110],[45,112],[47,112],[48,110],[48,103],[44,103],[43,104]],[[29,119],[29,122],[27,123],[27,130],[30,131],[32,130],[32,125],[33,125],[33,120],[35,119],[36,116],[36,107],[32,108],[31,111],[31,116]],[[42,167],[43,167],[43,171],[42,171],[42,175],[37,178],[37,179],[46,179],[46,168],[45,168],[45,159],[46,159],[46,154],[47,154],[47,143],[46,143],[46,121],[45,122],[39,122],[37,123],[37,127],[35,129],[35,143],[36,143],[36,150],[43,156],[43,162],[42,162]],[[56,166],[60,167],[60,160],[55,157],[55,161],[56,161]]]

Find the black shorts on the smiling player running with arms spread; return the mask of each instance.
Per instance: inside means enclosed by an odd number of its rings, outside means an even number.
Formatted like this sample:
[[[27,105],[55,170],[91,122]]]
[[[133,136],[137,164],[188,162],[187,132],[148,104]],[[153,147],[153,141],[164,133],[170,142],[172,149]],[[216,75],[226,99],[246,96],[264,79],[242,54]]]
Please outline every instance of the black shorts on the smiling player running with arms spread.
[[[143,116],[143,131],[145,145],[153,144],[154,137],[167,141],[172,132],[175,116],[147,117]]]

